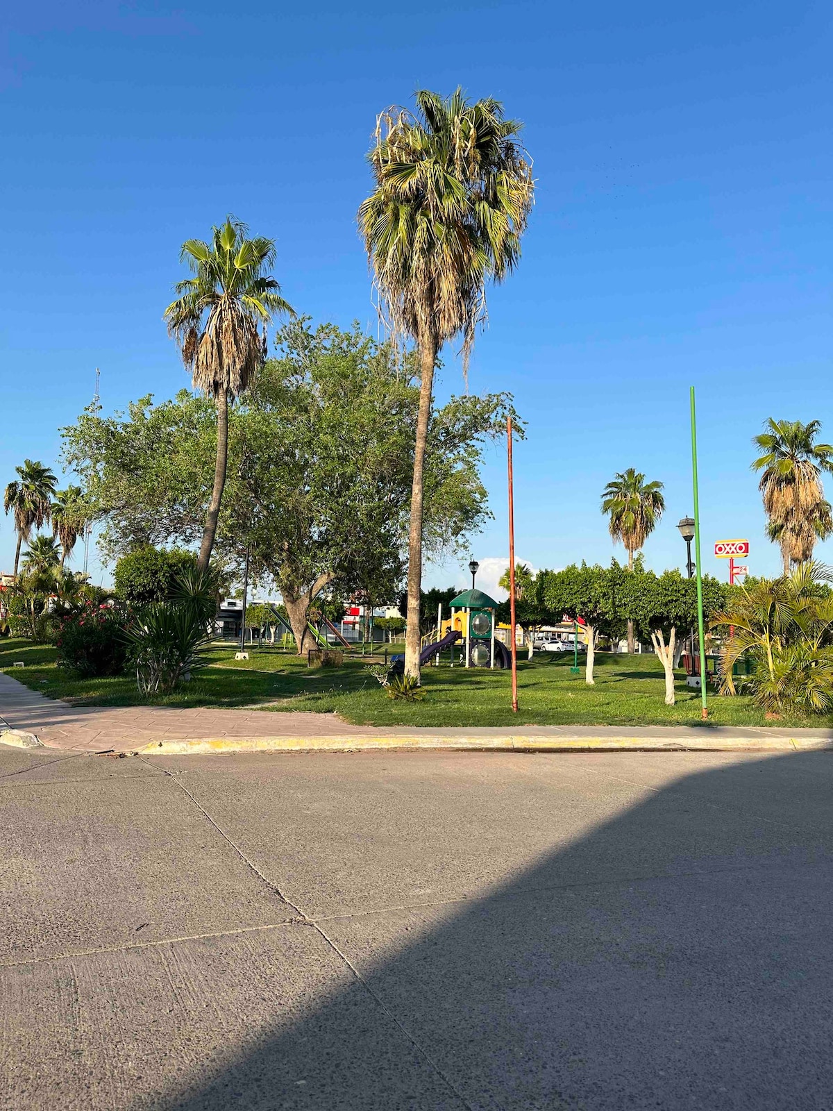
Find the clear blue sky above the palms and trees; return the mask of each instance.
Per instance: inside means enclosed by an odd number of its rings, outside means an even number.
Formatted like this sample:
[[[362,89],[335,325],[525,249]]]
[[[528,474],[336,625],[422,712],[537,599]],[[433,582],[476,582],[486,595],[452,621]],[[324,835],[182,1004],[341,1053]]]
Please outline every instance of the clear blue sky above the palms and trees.
[[[817,418],[833,440],[832,22],[802,0],[14,6],[0,57],[0,482],[24,456],[57,461],[96,367],[106,410],[187,384],[161,313],[180,243],[227,212],[277,240],[298,310],[374,328],[355,210],[375,116],[462,84],[525,122],[538,179],[520,269],[490,296],[471,370],[473,390],[513,390],[529,422],[519,557],[606,562],[600,492],[633,466],[665,483],[646,561],[679,565],[694,384],[705,549],[747,537],[751,569],[776,571],[751,438],[773,416]],[[440,396],[461,388],[452,351]],[[474,551],[494,570],[502,449],[486,479],[495,521]],[[819,551],[833,561],[833,541]],[[0,567],[12,557],[2,519]],[[428,579],[465,582],[454,568]]]

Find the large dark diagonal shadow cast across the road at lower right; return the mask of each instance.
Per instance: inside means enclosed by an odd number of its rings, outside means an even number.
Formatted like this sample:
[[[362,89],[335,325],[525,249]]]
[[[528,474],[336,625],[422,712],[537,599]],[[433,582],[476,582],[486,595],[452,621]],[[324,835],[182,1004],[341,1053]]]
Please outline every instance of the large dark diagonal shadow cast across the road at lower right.
[[[725,763],[485,898],[322,921],[363,982],[157,1107],[830,1107],[831,787]]]

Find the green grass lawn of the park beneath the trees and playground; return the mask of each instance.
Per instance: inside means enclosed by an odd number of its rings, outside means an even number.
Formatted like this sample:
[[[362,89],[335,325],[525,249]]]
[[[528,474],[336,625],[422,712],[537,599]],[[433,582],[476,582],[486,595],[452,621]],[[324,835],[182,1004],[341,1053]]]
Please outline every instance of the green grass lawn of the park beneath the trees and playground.
[[[0,640],[0,670],[7,670],[33,690],[87,705],[140,705],[130,675],[112,679],[72,679],[54,665],[56,650],[22,640]],[[24,668],[12,670],[22,660]],[[334,711],[354,724],[373,725],[670,725],[700,724],[700,695],[680,678],[678,703],[663,702],[662,668],[653,655],[596,655],[595,687],[584,672],[571,674],[572,658],[542,654],[519,663],[520,713],[510,705],[510,675],[504,671],[428,667],[425,697],[415,703],[389,699],[361,658],[343,667],[308,669],[305,661],[273,649],[255,649],[249,660],[235,661],[233,648],[211,650],[211,663],[174,694],[152,700],[172,707],[259,707],[268,711]],[[767,722],[749,698],[710,693],[710,722],[726,725],[814,724],[785,718]],[[275,730],[280,724],[275,722]]]

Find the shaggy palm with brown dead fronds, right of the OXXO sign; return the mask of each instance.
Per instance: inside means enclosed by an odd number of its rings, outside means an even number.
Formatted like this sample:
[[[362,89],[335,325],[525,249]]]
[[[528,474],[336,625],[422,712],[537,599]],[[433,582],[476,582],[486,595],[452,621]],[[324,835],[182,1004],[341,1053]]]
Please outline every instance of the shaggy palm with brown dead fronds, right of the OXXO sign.
[[[813,558],[816,540],[833,532],[831,506],[824,499],[822,471],[833,471],[833,446],[816,443],[821,421],[770,418],[753,439],[761,454],[752,469],[762,471],[759,488],[767,517],[766,531],[781,546],[784,574],[792,563]]]

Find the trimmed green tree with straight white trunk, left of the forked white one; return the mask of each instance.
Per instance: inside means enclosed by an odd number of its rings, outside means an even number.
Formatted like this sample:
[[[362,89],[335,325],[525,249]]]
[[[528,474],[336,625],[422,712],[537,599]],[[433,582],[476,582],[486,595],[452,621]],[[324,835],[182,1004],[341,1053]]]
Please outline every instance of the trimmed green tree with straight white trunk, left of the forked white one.
[[[611,567],[588,567],[575,563],[563,571],[541,571],[541,600],[553,614],[581,618],[588,641],[585,682],[593,685],[593,663],[599,637],[620,619],[619,594],[623,569],[614,561]]]

